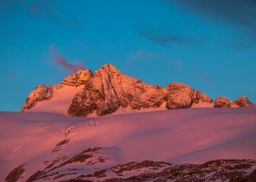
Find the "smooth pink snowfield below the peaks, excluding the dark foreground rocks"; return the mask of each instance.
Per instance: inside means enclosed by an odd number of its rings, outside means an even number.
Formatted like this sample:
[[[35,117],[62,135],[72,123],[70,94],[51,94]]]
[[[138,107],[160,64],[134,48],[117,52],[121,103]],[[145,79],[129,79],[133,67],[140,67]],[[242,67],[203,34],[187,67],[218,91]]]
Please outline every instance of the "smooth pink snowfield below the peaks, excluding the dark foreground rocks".
[[[25,181],[50,161],[65,157],[67,165],[54,163],[59,166],[52,173],[61,173],[67,166],[79,170],[61,180],[131,161],[198,164],[216,159],[256,159],[256,106],[159,110],[102,118],[0,112],[0,122],[0,181],[22,164],[25,172],[20,181]],[[89,163],[71,160],[85,150],[93,156]]]

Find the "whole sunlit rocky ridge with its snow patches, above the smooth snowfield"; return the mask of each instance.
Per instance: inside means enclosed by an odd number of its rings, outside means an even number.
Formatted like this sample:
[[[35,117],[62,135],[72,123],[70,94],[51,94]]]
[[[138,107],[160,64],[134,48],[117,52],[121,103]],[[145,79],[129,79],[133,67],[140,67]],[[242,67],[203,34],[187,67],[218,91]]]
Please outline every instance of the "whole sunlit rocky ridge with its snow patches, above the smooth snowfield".
[[[105,116],[120,110],[249,105],[251,102],[245,96],[234,102],[221,97],[213,103],[206,94],[182,83],[170,83],[166,88],[148,85],[121,73],[111,64],[105,64],[94,73],[80,70],[59,85],[39,85],[27,97],[22,111],[59,112],[84,117]]]

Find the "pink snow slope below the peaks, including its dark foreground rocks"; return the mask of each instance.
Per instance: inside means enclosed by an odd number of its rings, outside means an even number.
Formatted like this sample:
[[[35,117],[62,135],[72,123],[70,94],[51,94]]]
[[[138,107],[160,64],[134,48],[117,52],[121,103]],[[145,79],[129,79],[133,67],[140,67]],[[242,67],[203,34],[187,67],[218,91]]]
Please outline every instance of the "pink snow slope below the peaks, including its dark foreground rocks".
[[[225,181],[256,165],[255,105],[101,118],[0,112],[0,122],[0,181]],[[217,159],[253,160],[202,164]]]

